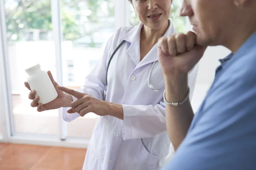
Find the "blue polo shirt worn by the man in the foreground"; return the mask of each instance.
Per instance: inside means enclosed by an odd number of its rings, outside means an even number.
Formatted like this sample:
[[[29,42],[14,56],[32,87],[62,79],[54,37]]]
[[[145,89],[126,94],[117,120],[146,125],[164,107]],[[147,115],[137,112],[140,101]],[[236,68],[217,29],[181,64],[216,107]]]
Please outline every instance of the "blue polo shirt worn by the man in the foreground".
[[[163,170],[256,170],[256,32],[220,61],[186,138]]]

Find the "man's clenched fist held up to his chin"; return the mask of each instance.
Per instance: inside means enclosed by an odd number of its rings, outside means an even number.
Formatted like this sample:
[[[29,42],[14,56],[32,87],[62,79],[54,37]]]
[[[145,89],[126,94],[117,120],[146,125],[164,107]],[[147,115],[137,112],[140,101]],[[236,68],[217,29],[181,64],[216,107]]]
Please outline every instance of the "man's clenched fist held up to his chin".
[[[196,44],[196,34],[162,37],[158,41],[158,59],[165,76],[187,74],[203,57],[207,47]]]

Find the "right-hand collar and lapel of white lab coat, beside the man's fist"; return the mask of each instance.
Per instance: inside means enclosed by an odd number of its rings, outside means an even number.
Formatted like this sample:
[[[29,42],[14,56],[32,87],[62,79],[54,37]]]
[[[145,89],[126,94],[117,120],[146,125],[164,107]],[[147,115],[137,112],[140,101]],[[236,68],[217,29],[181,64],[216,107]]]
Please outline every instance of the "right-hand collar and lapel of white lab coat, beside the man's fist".
[[[175,28],[172,25],[172,22],[169,20],[169,27],[166,31],[166,33],[163,35],[163,37],[167,37],[171,34],[176,34]],[[157,44],[154,45],[153,48],[151,48],[151,50],[148,52],[148,54],[141,60],[141,62],[137,65],[137,68],[140,68],[144,65],[147,65],[151,62],[155,62],[158,61],[158,57],[157,57]]]

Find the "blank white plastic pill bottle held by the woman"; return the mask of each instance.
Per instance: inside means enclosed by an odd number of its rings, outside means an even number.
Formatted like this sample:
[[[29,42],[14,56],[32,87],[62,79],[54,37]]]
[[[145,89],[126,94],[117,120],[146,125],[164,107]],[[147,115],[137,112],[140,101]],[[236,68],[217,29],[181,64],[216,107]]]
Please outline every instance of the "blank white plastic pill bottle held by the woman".
[[[41,70],[40,64],[27,68],[25,71],[29,74],[27,82],[29,83],[31,90],[35,90],[36,96],[39,96],[40,98],[38,103],[44,105],[56,99],[58,94],[47,72]]]

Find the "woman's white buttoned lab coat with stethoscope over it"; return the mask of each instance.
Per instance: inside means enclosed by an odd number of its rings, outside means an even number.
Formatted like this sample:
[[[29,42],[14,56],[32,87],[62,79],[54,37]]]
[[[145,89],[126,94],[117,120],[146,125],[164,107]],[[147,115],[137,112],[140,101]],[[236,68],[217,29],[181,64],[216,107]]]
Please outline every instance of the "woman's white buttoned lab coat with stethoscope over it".
[[[90,139],[83,170],[160,170],[172,148],[166,130],[163,102],[165,87],[155,92],[147,84],[151,66],[158,60],[157,45],[140,61],[142,26],[141,23],[135,27],[119,28],[108,40],[103,57],[87,76],[85,85],[79,89],[80,92],[103,99],[109,58],[120,42],[125,40],[111,60],[106,95],[106,101],[122,104],[124,120],[113,116],[99,117]],[[170,23],[164,36],[175,32]],[[195,67],[189,73],[190,99],[195,88],[197,70],[198,67]],[[150,84],[160,88],[163,83],[163,74],[157,61]],[[63,109],[65,121],[70,122],[79,117],[78,113],[67,114],[66,110]]]

